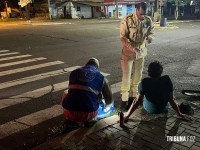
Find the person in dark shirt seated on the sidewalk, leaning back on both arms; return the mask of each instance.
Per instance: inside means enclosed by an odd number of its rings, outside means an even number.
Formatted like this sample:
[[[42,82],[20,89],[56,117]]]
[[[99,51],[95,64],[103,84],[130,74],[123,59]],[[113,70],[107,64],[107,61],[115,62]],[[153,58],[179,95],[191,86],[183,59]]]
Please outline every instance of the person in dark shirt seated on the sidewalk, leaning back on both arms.
[[[190,117],[182,114],[178,105],[174,101],[173,84],[168,75],[161,76],[163,67],[160,62],[155,61],[150,63],[148,67],[149,77],[144,78],[139,85],[139,94],[132,103],[127,114],[125,114],[125,121],[137,109],[139,104],[143,101],[144,109],[151,114],[166,113],[169,104],[177,112],[179,118],[190,120]],[[168,104],[169,102],[169,104]]]

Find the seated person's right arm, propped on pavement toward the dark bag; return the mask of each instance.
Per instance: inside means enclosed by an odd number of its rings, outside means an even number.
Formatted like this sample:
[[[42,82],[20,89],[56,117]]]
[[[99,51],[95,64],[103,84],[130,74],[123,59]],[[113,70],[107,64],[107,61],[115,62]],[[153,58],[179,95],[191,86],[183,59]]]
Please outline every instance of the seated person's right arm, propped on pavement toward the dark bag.
[[[183,119],[183,120],[186,120],[186,121],[191,121],[191,120],[192,120],[188,115],[182,114],[182,113],[180,112],[177,103],[174,101],[173,92],[170,93],[170,96],[169,96],[169,103],[170,103],[170,105],[172,106],[172,108],[176,111],[178,118]]]

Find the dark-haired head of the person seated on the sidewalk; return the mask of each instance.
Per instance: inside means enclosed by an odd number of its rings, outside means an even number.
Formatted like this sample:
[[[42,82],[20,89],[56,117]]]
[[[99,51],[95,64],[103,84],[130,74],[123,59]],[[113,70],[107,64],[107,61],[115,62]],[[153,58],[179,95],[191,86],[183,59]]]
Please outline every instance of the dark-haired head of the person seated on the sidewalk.
[[[158,78],[161,76],[162,72],[163,72],[163,66],[159,61],[154,61],[149,64],[148,74],[150,77]]]

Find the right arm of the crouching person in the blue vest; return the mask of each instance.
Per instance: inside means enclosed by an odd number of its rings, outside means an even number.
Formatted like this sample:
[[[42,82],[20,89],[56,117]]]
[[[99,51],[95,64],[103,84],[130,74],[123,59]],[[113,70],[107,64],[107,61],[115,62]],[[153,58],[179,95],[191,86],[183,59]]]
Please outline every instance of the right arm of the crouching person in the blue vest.
[[[104,78],[104,84],[102,89],[102,94],[105,99],[106,104],[112,103],[112,92],[108,80]]]

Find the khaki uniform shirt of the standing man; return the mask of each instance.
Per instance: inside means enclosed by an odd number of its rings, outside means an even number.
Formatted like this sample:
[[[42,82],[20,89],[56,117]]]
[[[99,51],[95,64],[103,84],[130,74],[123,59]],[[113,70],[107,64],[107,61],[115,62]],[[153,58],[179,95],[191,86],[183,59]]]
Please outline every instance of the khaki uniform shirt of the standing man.
[[[144,16],[144,20],[140,21],[136,13],[127,15],[121,21],[120,38],[127,38],[128,42],[133,46],[140,49],[139,54],[124,46],[122,54],[128,57],[145,57],[147,49],[145,40],[147,37],[153,38],[153,23],[150,17]]]

